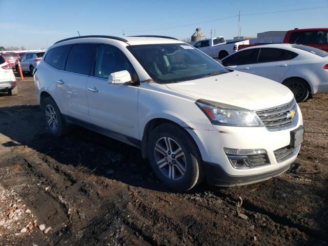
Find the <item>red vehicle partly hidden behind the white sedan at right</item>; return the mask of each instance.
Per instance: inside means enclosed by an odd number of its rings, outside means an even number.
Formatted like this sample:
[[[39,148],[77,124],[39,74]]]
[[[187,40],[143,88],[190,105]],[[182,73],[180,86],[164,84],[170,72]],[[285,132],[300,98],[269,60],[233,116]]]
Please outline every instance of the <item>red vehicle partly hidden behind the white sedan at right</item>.
[[[282,43],[307,45],[328,52],[328,28],[290,30],[286,32]],[[253,45],[239,45],[238,50],[257,45],[265,44],[257,43]]]

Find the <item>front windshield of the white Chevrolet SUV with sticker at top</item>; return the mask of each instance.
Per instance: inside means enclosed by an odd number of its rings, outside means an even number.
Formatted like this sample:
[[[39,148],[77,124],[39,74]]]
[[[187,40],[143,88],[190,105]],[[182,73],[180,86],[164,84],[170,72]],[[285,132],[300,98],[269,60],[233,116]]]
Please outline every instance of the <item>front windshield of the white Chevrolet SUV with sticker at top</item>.
[[[127,48],[149,76],[160,84],[229,72],[213,58],[188,44],[132,45]]]

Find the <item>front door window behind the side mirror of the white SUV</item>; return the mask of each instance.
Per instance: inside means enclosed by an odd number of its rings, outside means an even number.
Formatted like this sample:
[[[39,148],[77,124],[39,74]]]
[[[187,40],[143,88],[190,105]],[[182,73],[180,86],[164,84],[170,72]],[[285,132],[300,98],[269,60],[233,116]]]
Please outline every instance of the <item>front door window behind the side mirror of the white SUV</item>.
[[[128,70],[132,77],[136,73],[125,54],[118,48],[100,45],[97,52],[94,76],[108,78],[111,73]]]

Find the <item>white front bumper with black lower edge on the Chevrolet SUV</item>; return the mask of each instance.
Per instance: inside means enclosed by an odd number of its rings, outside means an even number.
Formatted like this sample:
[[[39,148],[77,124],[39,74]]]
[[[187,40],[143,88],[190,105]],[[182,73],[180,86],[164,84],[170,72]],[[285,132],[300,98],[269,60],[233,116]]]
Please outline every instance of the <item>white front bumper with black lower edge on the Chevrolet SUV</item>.
[[[220,186],[245,185],[279,175],[295,161],[300,146],[296,147],[288,158],[279,161],[276,159],[275,151],[288,147],[291,143],[291,131],[303,125],[299,107],[297,111],[297,124],[279,131],[269,131],[265,127],[227,127],[197,122],[186,122],[188,127],[185,128],[199,147],[210,183]],[[270,164],[236,169],[231,165],[224,148],[264,149],[267,151]]]

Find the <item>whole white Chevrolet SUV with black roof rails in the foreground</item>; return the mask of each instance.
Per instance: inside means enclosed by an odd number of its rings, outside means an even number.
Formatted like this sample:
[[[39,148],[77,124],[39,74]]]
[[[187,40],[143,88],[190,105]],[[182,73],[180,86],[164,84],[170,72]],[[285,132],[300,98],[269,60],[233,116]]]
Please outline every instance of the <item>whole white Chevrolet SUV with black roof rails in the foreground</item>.
[[[52,134],[77,124],[136,146],[181,191],[204,178],[236,186],[279,175],[303,139],[287,87],[228,70],[170,37],[60,40],[34,80]]]

